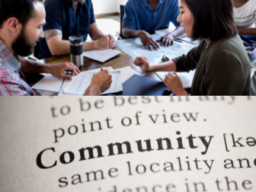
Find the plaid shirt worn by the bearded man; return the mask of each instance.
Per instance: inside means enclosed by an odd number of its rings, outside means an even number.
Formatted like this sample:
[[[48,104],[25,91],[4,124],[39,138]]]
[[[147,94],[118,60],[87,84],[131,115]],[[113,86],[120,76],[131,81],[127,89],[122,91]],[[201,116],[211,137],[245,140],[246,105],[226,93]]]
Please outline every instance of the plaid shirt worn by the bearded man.
[[[0,95],[35,95],[20,71],[20,59],[0,40]]]

